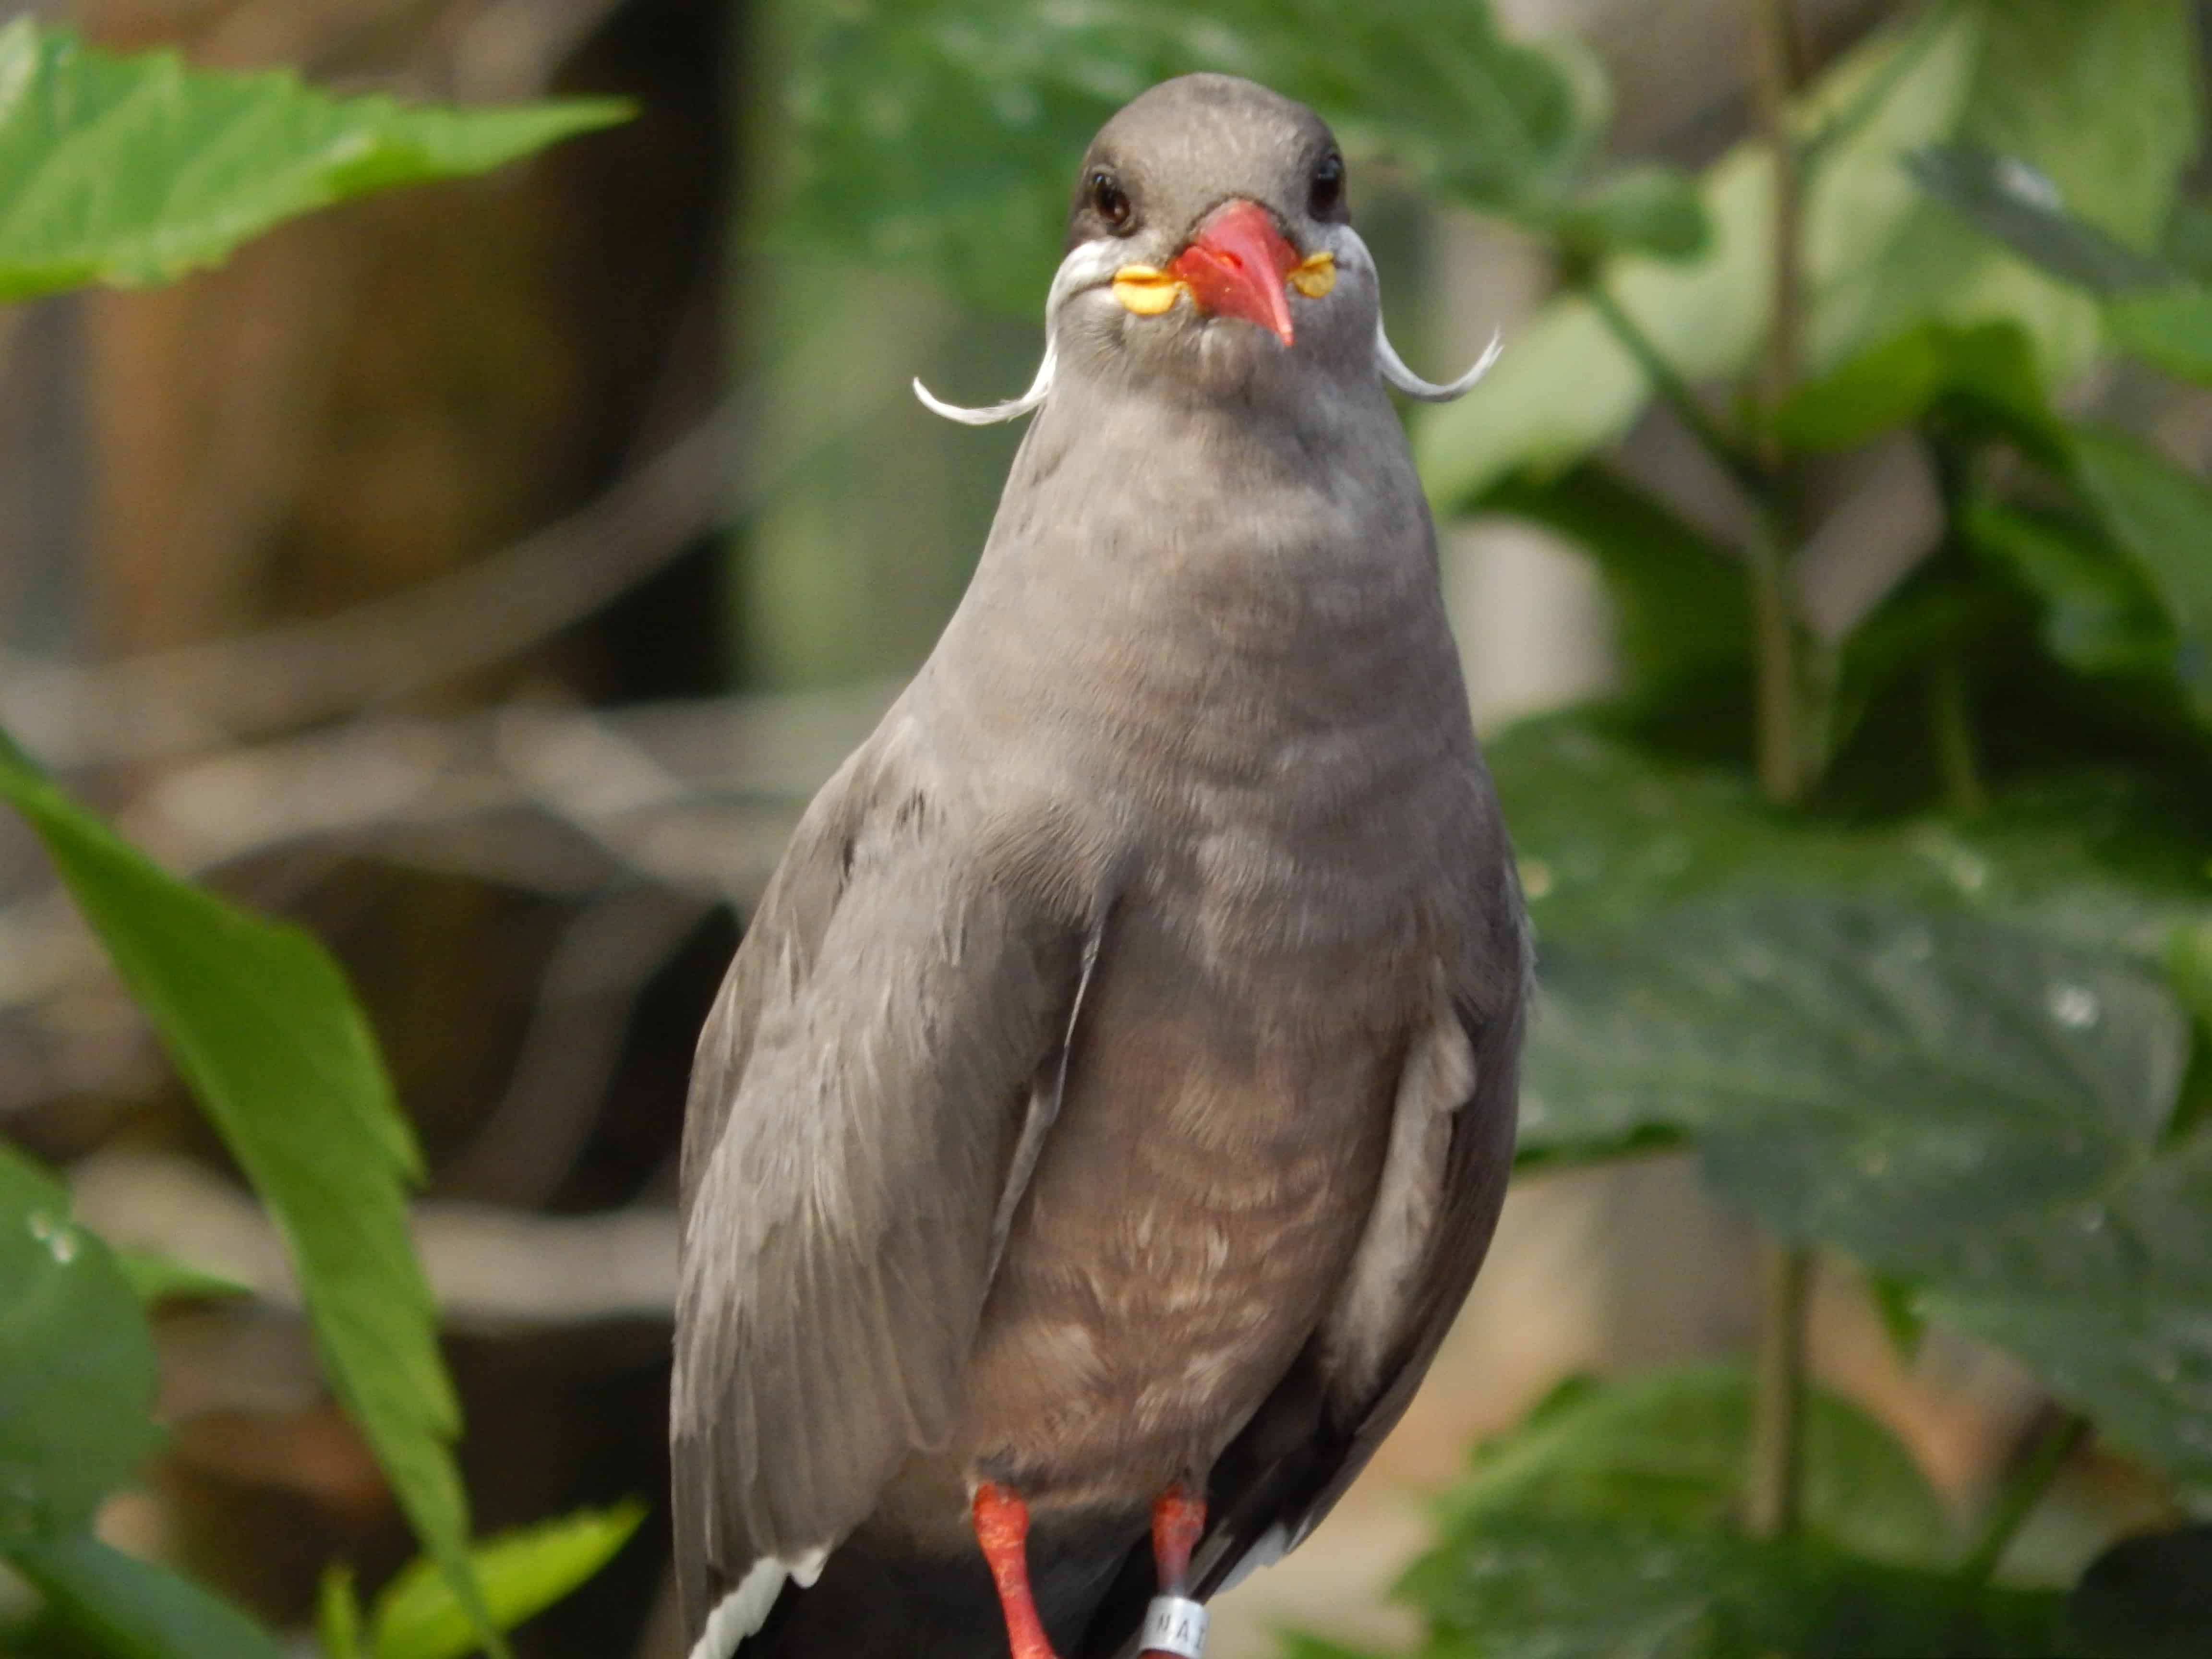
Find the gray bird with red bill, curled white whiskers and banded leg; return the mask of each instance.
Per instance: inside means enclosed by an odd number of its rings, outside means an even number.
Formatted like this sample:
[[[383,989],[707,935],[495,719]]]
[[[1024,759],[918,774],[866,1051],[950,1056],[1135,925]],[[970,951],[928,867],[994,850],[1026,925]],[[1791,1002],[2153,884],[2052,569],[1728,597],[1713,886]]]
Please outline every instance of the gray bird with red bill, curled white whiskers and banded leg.
[[[1513,1150],[1528,945],[1307,108],[1093,142],[945,637],[699,1040],[695,1659],[1197,1650],[1405,1411]],[[1150,1533],[1150,1537],[1148,1537]],[[1141,1626],[1141,1635],[1139,1635]]]

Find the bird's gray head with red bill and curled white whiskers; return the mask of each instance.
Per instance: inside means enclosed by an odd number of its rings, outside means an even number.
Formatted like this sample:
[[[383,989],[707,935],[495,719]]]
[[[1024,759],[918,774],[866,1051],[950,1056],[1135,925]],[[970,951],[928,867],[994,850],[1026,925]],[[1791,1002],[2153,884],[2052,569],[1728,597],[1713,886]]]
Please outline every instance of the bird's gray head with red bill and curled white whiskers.
[[[918,380],[916,394],[971,425],[1029,414],[1071,372],[1197,396],[1263,385],[1312,396],[1327,378],[1383,378],[1449,398],[1491,361],[1451,385],[1398,361],[1336,137],[1303,104],[1234,75],[1161,82],[1099,128],[1044,312],[1044,361],[1024,396],[960,409]]]

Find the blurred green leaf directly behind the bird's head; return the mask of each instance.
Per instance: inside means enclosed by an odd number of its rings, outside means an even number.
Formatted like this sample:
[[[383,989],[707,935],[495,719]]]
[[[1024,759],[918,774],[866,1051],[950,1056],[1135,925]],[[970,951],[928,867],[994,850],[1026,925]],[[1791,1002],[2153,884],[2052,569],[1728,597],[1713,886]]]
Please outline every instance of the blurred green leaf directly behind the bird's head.
[[[856,0],[810,7],[785,115],[785,228],[812,248],[925,261],[953,292],[1035,312],[1060,259],[1075,166],[1152,82],[1261,80],[1473,204],[1551,188],[1584,144],[1575,95],[1478,0],[1343,9],[1225,0]]]

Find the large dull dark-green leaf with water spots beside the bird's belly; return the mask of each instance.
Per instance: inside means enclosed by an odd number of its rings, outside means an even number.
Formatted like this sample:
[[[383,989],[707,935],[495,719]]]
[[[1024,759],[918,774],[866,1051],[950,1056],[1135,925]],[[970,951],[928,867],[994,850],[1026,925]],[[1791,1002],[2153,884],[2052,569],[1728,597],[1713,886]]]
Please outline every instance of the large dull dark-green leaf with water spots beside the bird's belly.
[[[1745,887],[1553,945],[1542,1133],[1692,1133],[1790,1239],[1927,1285],[2212,1500],[2212,1137],[2154,969],[1966,911]]]

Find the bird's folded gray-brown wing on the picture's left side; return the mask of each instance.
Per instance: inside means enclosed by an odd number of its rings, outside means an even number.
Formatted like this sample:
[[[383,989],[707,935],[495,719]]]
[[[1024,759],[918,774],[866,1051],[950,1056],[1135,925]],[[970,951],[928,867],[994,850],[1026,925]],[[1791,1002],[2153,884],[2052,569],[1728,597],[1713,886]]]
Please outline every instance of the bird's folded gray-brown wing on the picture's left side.
[[[951,1427],[1082,927],[865,761],[816,801],[701,1035],[684,1148],[677,1568],[692,1628],[836,1544]]]

